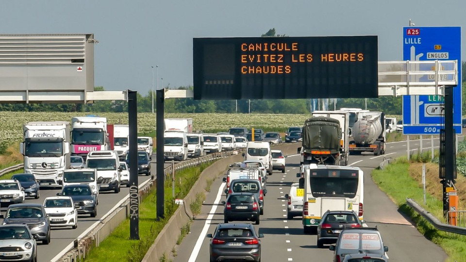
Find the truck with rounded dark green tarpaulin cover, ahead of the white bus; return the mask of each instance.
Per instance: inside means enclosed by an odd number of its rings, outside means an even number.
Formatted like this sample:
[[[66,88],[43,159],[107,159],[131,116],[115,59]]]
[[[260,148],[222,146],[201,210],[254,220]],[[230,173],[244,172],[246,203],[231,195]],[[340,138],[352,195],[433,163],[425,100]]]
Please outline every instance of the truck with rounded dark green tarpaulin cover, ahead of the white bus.
[[[341,127],[339,120],[326,116],[313,116],[302,127],[302,164],[340,165]]]

